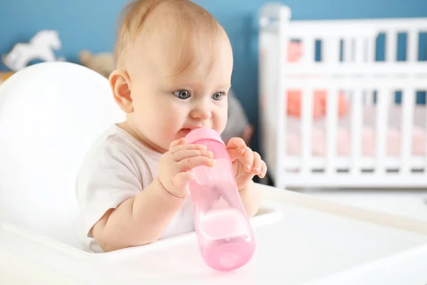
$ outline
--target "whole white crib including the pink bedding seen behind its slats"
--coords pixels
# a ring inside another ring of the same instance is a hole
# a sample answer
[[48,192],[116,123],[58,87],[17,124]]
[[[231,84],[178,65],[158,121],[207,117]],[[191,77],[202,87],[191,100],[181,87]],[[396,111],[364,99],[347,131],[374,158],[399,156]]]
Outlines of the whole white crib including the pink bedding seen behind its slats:
[[[426,104],[416,104],[416,92],[427,90],[427,62],[418,61],[427,19],[290,21],[290,14],[267,4],[259,15],[260,142],[275,186],[427,187]],[[376,61],[381,34],[385,58]],[[396,56],[401,35],[405,61]],[[302,48],[297,60],[288,56],[292,45]],[[315,90],[327,100],[318,99],[325,112],[314,118]]]

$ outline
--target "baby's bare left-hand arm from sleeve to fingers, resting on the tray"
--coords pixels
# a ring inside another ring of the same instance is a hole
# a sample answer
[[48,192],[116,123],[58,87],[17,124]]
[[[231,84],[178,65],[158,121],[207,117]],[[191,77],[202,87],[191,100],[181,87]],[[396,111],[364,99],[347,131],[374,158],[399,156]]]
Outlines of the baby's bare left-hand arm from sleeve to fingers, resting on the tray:
[[92,229],[93,238],[105,252],[157,241],[188,194],[194,167],[213,166],[212,153],[203,145],[172,142],[159,161],[159,177],[137,197],[109,209]]

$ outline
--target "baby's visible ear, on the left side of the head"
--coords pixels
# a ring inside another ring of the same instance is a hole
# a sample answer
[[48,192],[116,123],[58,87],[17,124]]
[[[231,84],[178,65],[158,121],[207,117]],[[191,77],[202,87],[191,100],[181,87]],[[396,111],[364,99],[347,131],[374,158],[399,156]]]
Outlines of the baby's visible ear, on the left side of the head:
[[125,113],[134,111],[130,96],[130,77],[126,71],[116,70],[110,74],[110,86],[114,100]]

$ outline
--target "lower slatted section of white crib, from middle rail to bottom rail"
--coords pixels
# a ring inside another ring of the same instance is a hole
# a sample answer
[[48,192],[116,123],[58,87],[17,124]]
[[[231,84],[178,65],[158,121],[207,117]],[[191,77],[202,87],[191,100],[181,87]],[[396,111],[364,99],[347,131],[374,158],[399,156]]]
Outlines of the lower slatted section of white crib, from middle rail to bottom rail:
[[[297,187],[301,185],[324,187],[378,187],[389,185],[395,181],[394,187],[411,185],[412,187],[426,187],[427,185],[427,145],[426,155],[414,156],[412,153],[411,138],[413,137],[413,117],[416,90],[427,90],[427,82],[420,78],[409,80],[306,80],[295,79],[287,83],[288,90],[300,89],[304,103],[302,104],[301,127],[301,155],[299,157],[288,155],[286,148],[280,149],[278,157],[283,157],[281,171],[277,175],[283,175],[285,185]],[[325,133],[326,150],[323,157],[312,154],[312,118],[314,90],[327,89],[327,112]],[[375,154],[371,157],[362,156],[362,98],[369,90],[377,91],[376,112],[376,145]],[[394,97],[394,90],[402,89],[403,105],[401,121],[401,149],[398,156],[386,155],[386,138],[389,121],[389,105]],[[351,94],[350,105],[351,151],[347,157],[337,155],[337,102],[340,90]],[[427,114],[427,112],[426,112]],[[427,126],[427,118],[426,126]],[[283,116],[284,124],[288,123],[288,117]],[[280,131],[279,131],[280,132]],[[369,180],[369,183],[367,180]],[[390,180],[391,179],[391,180]],[[411,180],[409,182],[409,180]],[[338,182],[340,181],[340,182]],[[399,182],[401,181],[401,182]],[[406,184],[405,184],[406,183]]]

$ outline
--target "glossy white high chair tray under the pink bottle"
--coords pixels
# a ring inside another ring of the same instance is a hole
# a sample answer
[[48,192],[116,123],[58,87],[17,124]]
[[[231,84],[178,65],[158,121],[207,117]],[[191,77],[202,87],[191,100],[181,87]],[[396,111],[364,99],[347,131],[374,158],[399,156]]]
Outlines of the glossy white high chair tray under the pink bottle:
[[3,224],[1,284],[427,284],[426,222],[258,187],[257,249],[236,271],[209,269],[194,233],[91,254]]

